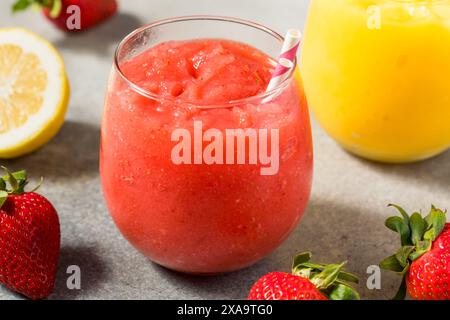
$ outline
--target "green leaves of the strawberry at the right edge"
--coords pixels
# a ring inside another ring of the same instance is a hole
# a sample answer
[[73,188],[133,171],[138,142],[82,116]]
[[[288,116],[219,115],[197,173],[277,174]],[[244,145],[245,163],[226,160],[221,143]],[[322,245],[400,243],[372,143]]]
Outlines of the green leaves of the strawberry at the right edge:
[[402,284],[393,298],[404,299],[406,296],[406,274],[411,263],[419,259],[431,250],[433,241],[444,230],[446,211],[431,207],[430,213],[423,218],[420,213],[411,216],[397,205],[389,205],[396,208],[402,217],[390,217],[385,225],[390,230],[400,234],[401,248],[392,256],[380,262],[380,267],[398,273],[402,277]]

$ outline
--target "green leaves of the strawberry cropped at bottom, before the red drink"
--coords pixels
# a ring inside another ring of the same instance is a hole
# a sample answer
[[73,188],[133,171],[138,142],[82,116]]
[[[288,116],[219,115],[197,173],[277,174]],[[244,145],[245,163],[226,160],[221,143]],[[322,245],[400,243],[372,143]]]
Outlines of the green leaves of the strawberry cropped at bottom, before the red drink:
[[294,257],[292,273],[309,279],[318,290],[331,300],[359,300],[359,294],[347,282],[358,283],[358,277],[342,271],[346,262],[341,264],[316,264],[309,262],[311,252]]

